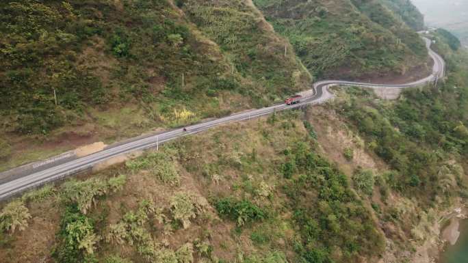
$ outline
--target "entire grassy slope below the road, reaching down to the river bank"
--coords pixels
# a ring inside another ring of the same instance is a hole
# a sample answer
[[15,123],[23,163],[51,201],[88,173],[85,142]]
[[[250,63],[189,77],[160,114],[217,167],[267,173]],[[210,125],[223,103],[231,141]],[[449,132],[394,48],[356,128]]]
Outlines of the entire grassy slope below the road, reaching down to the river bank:
[[[467,53],[436,38],[452,65],[439,89],[411,90],[391,102],[337,89],[328,105],[179,139],[162,153],[83,176],[127,175],[120,190],[92,183],[79,191],[78,200],[98,195],[86,214],[67,199],[78,185],[73,181],[25,195],[32,218],[23,232],[2,233],[1,258],[66,263],[119,255],[151,262],[148,255],[161,256],[152,246],[172,256],[192,243],[194,259],[187,262],[411,262],[437,236],[441,214],[468,197]],[[178,193],[190,193],[196,204],[185,229],[171,209]],[[144,199],[161,210],[142,215]],[[93,239],[92,255],[66,245],[70,219],[88,229],[78,236],[102,238]],[[111,225],[128,221],[135,223],[124,234],[133,237],[112,243]]]

